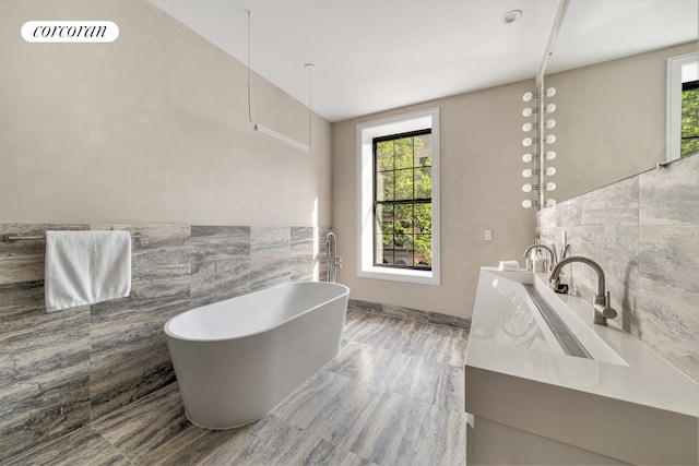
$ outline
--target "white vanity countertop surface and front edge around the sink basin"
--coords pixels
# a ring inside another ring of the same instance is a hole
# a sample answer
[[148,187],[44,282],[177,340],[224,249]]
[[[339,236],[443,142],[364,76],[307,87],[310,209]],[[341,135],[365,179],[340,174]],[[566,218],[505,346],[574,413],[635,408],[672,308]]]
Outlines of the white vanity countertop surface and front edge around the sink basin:
[[[628,366],[498,342],[493,335],[493,323],[501,321],[512,310],[508,297],[503,298],[502,292],[494,291],[493,282],[498,277],[512,277],[513,282],[533,284],[549,302],[553,299],[565,302],[578,319]],[[466,367],[699,418],[697,382],[615,323],[608,326],[593,324],[592,307],[587,300],[572,295],[554,294],[545,279],[544,274],[535,276],[525,271],[500,272],[496,267],[482,268]],[[508,306],[502,306],[503,303],[510,304],[509,309]]]

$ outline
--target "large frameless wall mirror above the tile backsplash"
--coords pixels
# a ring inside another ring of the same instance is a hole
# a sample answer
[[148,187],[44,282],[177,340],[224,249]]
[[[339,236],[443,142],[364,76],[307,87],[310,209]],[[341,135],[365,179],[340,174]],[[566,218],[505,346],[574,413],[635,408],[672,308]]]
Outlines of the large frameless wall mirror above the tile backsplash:
[[557,202],[668,160],[668,59],[687,56],[699,57],[697,0],[570,0],[544,76]]

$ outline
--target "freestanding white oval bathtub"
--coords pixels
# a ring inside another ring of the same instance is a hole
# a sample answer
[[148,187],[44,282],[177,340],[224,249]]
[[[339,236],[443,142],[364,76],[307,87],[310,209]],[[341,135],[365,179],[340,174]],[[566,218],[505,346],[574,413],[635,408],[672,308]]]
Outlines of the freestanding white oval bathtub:
[[348,299],[344,285],[292,283],[167,321],[189,420],[230,429],[274,409],[337,355]]

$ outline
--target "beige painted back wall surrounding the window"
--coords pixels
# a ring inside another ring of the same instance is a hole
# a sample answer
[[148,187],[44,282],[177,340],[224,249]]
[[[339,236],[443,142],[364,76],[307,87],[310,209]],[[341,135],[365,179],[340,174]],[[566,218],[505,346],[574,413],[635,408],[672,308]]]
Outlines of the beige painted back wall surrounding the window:
[[[352,297],[470,318],[482,265],[517,259],[533,241],[534,212],[521,207],[521,96],[533,81],[463,94],[333,124],[333,229]],[[356,276],[356,124],[439,107],[441,285]],[[493,241],[484,241],[484,229]]]

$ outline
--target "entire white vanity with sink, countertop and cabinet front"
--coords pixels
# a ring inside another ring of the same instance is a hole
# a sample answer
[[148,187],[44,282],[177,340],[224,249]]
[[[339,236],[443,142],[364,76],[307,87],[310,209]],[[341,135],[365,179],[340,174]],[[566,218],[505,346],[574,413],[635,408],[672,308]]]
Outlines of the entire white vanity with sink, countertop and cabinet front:
[[[544,280],[481,271],[464,371],[467,464],[699,464],[699,384]],[[532,287],[590,357],[557,345]]]

